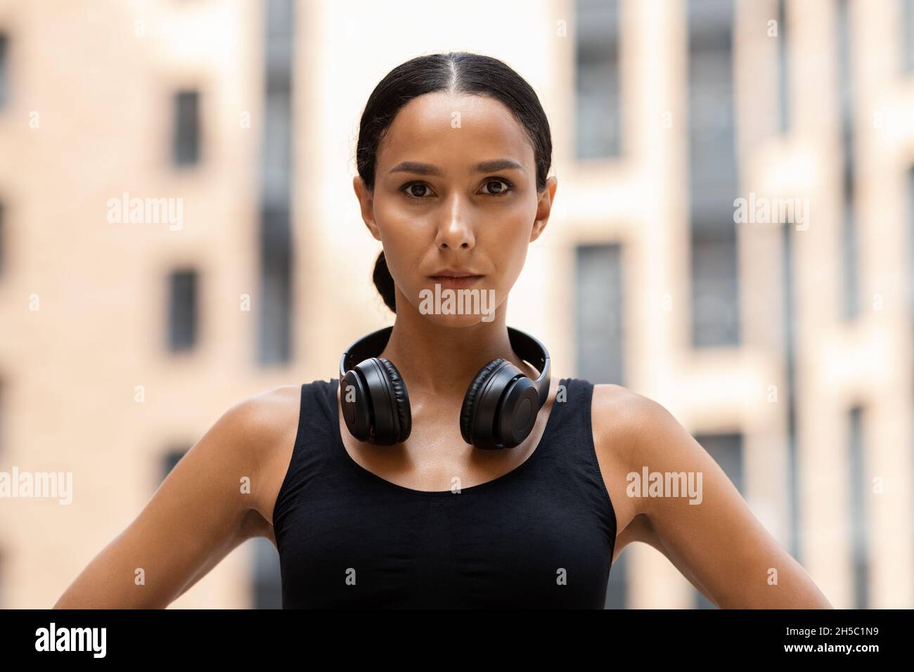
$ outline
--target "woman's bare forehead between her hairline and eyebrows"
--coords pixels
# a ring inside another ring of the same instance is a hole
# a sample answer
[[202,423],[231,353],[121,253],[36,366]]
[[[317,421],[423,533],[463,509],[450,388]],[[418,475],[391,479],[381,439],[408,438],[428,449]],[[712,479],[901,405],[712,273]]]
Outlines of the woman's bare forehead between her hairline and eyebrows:
[[535,157],[524,127],[501,101],[488,96],[426,93],[400,108],[378,146],[377,168],[400,161],[470,165],[514,159],[532,174]]

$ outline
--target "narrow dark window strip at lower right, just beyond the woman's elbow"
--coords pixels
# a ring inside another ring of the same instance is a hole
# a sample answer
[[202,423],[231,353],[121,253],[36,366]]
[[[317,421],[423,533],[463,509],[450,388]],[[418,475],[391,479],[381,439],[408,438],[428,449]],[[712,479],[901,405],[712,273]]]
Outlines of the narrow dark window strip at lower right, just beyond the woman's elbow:
[[869,608],[869,552],[866,534],[866,495],[869,477],[866,472],[863,445],[863,408],[854,406],[847,411],[850,478],[851,558],[854,568],[854,608]]

